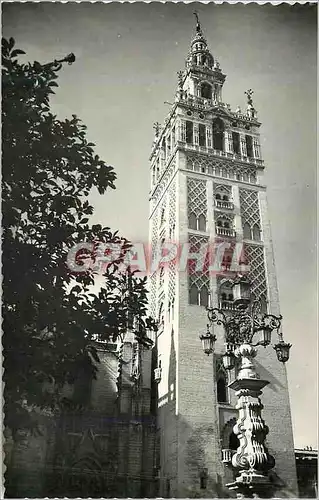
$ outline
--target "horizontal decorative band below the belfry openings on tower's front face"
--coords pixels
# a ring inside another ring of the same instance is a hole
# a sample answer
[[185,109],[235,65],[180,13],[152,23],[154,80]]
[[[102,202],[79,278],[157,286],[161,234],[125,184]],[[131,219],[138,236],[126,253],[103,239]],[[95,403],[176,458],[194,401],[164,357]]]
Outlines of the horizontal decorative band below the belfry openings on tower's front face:
[[245,164],[230,162],[226,159],[210,158],[203,155],[188,155],[186,168],[194,172],[202,172],[215,177],[235,179],[256,184],[256,169]]

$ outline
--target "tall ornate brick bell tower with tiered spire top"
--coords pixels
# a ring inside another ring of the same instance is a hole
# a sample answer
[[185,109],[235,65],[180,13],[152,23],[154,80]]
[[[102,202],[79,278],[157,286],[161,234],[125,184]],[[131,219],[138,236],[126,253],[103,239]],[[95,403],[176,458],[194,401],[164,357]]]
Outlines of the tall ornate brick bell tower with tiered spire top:
[[[150,241],[157,257],[149,287],[150,314],[159,322],[158,495],[212,498],[228,496],[225,485],[236,474],[231,465],[238,446],[232,432],[236,396],[228,388],[236,374],[226,373],[221,363],[221,328],[214,332],[215,354],[202,351],[199,334],[206,329],[206,307],[231,314],[231,283],[240,271],[248,273],[265,312],[279,315],[280,308],[253,92],[245,92],[244,111],[224,102],[226,76],[195,15],[175,102],[164,124],[154,126]],[[168,242],[175,258],[168,259],[166,252],[161,261],[158,255],[163,257]],[[276,496],[294,497],[285,366],[273,349],[262,349],[257,370],[270,382],[262,402],[270,429],[267,446],[276,460],[272,480]]]

